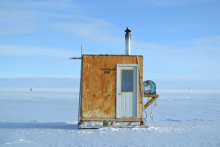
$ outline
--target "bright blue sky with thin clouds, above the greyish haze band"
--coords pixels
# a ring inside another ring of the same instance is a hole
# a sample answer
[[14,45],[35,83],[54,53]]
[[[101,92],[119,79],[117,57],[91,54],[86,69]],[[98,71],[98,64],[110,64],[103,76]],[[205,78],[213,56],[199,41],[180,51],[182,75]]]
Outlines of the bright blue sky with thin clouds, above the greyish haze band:
[[79,78],[84,54],[144,56],[144,79],[220,81],[219,0],[0,0],[0,78]]

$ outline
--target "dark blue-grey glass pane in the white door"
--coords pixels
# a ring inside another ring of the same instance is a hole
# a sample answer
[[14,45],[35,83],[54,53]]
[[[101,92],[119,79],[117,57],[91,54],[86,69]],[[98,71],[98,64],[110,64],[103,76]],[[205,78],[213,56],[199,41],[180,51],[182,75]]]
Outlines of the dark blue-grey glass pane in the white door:
[[133,92],[133,70],[121,70],[121,92]]

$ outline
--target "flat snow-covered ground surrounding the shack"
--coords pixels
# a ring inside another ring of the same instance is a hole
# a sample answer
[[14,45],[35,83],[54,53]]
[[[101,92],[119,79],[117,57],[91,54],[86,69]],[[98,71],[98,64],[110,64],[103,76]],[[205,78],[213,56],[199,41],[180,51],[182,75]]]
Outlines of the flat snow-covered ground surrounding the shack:
[[78,129],[77,89],[1,88],[0,146],[220,146],[220,91],[158,94],[149,128]]

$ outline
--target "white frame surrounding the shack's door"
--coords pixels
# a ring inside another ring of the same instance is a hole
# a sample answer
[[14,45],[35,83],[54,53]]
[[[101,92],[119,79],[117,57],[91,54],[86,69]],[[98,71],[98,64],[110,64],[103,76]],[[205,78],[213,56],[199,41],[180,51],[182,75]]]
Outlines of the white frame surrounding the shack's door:
[[[136,87],[136,102],[137,102],[137,106],[136,106],[136,108],[137,108],[137,110],[136,110],[136,116],[134,116],[134,117],[132,117],[132,118],[138,118],[138,88],[139,88],[139,65],[138,64],[117,64],[116,65],[116,84],[115,84],[115,89],[116,89],[116,97],[115,97],[115,99],[116,99],[116,112],[115,112],[115,117],[116,118],[121,118],[121,117],[118,117],[118,93],[119,93],[119,91],[118,91],[118,85],[117,85],[117,83],[118,83],[118,69],[119,69],[119,67],[135,67],[136,68],[136,77],[134,77],[134,78],[136,78],[136,85],[137,85],[137,87]],[[119,71],[119,74],[120,74],[120,80],[121,80],[121,73],[120,73],[120,71]],[[135,85],[135,84],[134,84]],[[135,88],[135,86],[134,86],[134,88]]]

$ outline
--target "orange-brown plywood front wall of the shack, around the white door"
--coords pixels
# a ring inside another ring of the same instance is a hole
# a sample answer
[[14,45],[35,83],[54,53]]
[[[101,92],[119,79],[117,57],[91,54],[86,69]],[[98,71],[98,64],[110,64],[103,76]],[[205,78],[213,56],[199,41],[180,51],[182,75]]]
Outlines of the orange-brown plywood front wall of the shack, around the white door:
[[[138,56],[140,81],[143,81],[143,56]],[[116,65],[137,64],[137,56],[83,55],[82,118],[114,119],[116,113]],[[142,117],[139,85],[138,118]]]

